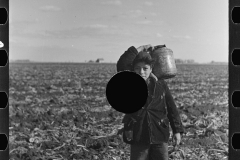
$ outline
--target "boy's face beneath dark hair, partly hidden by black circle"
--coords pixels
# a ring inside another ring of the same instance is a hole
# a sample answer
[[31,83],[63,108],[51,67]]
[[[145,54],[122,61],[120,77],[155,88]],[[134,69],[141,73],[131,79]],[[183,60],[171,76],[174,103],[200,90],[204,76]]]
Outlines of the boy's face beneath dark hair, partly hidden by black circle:
[[152,68],[144,62],[138,62],[134,66],[134,72],[139,74],[146,81],[152,72]]

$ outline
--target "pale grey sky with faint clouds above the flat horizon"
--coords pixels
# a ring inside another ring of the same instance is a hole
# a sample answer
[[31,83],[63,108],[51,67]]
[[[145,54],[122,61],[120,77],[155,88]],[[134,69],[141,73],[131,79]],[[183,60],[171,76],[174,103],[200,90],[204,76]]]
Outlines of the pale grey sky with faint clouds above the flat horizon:
[[228,61],[227,0],[10,0],[10,60],[116,62],[130,46]]

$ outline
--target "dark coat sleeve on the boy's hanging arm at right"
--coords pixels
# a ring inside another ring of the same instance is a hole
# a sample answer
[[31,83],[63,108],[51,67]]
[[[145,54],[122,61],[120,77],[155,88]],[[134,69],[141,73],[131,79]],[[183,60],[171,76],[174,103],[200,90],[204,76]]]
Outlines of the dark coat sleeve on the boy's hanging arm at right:
[[172,97],[172,94],[167,86],[167,83],[163,81],[163,85],[165,88],[165,97],[166,97],[166,104],[167,104],[167,112],[168,112],[168,119],[173,131],[175,133],[184,133],[184,127],[181,122],[181,118],[179,116],[176,104]]

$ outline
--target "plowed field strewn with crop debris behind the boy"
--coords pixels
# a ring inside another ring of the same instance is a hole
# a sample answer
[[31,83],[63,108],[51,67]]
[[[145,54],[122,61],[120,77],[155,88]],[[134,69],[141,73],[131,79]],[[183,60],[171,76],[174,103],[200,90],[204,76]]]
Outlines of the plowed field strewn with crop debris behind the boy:
[[[170,159],[227,159],[228,66],[177,69],[167,83],[186,134],[175,148],[170,138]],[[10,64],[10,159],[129,159],[123,114],[105,97],[115,73],[115,64]]]

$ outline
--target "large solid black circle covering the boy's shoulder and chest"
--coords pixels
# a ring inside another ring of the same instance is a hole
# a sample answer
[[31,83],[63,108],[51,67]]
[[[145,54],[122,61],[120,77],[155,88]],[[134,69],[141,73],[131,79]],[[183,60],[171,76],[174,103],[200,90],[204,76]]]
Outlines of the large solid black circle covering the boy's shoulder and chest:
[[147,96],[147,84],[135,72],[119,72],[107,83],[107,100],[119,112],[129,114],[138,111],[145,105]]

